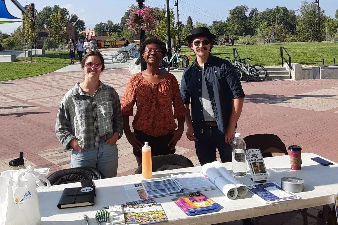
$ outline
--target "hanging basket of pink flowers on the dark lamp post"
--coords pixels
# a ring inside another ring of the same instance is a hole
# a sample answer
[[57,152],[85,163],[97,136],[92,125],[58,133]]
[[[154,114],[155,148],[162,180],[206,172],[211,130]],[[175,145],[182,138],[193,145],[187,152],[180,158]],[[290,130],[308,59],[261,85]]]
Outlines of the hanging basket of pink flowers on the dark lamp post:
[[155,13],[149,6],[143,6],[142,9],[139,9],[136,5],[132,4],[129,6],[128,12],[129,18],[126,24],[130,31],[138,32],[140,29],[145,31],[156,29],[158,24],[154,19]]

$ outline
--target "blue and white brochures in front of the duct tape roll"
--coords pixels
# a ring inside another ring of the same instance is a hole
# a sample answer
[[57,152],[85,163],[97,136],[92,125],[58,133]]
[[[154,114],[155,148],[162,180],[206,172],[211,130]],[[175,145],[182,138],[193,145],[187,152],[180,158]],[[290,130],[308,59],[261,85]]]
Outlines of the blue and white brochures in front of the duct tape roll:
[[282,190],[275,182],[266,182],[247,186],[249,191],[255,194],[262,202],[266,204],[275,204],[282,201],[299,199],[300,197]]

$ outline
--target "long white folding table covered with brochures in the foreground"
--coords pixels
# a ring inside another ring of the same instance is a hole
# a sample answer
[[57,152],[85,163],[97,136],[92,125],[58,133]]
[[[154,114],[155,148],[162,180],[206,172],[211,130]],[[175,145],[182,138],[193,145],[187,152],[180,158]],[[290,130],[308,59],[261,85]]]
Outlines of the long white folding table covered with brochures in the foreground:
[[[285,176],[294,176],[305,180],[305,191],[296,193],[301,197],[300,199],[268,205],[260,201],[258,197],[253,196],[250,192],[244,197],[230,200],[218,189],[202,191],[202,194],[210,197],[222,207],[218,212],[197,216],[186,216],[171,201],[174,195],[155,198],[155,201],[162,204],[169,219],[168,225],[216,224],[334,203],[333,196],[338,194],[338,164],[333,163],[331,166],[322,166],[312,161],[311,158],[313,157],[318,157],[318,155],[302,153],[302,165],[299,171],[291,170],[288,155],[264,158],[269,175],[268,181],[274,181],[280,185],[281,178]],[[232,168],[231,162],[223,163],[223,165],[229,170]],[[247,170],[249,171],[248,165]],[[201,166],[159,171],[153,172],[153,178],[167,176],[168,174],[199,171],[201,171]],[[239,177],[238,179],[245,185],[251,185],[253,182],[250,178],[251,175],[248,173],[246,176]],[[38,188],[41,224],[80,225],[84,224],[83,214],[89,217],[89,224],[96,224],[95,212],[104,206],[125,204],[130,201],[123,185],[141,179],[143,179],[142,174],[94,180],[93,182],[96,186],[95,205],[69,209],[58,209],[56,205],[65,188],[80,187],[80,182],[51,186],[49,189]]]

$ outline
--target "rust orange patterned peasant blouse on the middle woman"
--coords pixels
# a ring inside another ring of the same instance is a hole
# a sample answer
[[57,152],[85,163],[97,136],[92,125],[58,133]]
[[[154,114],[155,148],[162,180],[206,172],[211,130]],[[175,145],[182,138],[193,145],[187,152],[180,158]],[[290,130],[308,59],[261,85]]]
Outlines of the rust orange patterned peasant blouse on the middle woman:
[[141,72],[132,75],[121,102],[122,116],[133,116],[135,102],[132,127],[153,137],[171,133],[177,128],[175,119],[186,115],[178,82],[172,74],[158,83],[148,82]]

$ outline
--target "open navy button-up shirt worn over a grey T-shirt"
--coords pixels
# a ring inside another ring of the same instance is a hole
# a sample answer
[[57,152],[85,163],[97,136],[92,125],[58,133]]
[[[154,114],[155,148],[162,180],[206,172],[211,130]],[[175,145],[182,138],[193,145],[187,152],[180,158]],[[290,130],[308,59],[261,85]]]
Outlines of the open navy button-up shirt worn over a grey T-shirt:
[[233,99],[245,97],[241,82],[229,61],[211,54],[204,63],[204,77],[196,62],[185,69],[180,91],[184,104],[189,105],[191,99],[191,119],[195,133],[202,133],[204,129],[201,79],[206,79],[218,131],[223,135],[231,116]]

